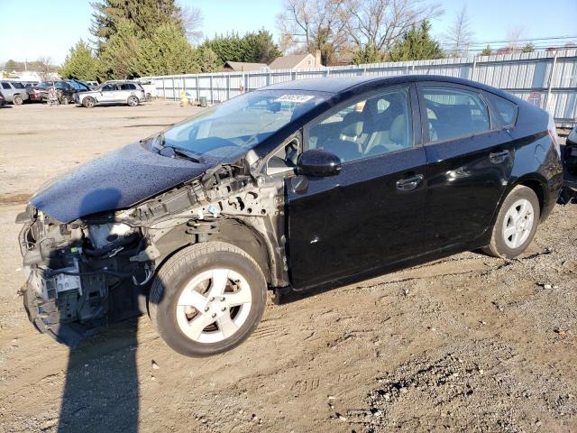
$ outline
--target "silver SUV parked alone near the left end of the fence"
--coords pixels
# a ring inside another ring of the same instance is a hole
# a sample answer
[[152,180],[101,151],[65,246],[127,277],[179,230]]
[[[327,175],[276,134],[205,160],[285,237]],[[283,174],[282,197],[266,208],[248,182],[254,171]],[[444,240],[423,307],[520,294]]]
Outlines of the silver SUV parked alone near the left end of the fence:
[[144,100],[142,87],[130,81],[106,81],[96,90],[79,94],[74,98],[76,104],[87,108],[109,104],[138,106]]

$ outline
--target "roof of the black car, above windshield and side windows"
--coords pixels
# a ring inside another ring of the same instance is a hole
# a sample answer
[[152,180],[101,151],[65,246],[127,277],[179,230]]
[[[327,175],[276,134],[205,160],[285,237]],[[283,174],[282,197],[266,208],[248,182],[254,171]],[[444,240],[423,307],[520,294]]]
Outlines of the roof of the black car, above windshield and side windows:
[[463,78],[445,77],[440,75],[398,75],[395,77],[358,77],[358,78],[312,78],[312,79],[298,79],[291,81],[283,81],[282,83],[273,84],[260,90],[301,90],[301,91],[315,91],[326,93],[341,93],[344,90],[362,87],[367,84],[390,86],[400,83],[412,83],[417,81],[441,81],[454,84],[462,84],[464,86],[472,86],[474,88],[481,88],[491,92],[497,91],[503,93],[496,88],[490,88],[484,84],[477,83]]

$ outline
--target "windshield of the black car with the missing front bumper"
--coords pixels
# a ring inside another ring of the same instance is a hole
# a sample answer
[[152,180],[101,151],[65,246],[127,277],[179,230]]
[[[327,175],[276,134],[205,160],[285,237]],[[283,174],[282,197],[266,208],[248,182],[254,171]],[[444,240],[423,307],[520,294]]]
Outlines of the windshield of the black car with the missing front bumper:
[[264,90],[234,97],[170,128],[162,144],[215,158],[240,156],[323,102],[320,95]]

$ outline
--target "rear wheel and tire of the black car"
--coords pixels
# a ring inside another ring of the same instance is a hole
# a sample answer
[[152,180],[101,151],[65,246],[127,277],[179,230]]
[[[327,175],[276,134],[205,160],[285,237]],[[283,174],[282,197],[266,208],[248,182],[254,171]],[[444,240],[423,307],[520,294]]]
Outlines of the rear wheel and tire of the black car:
[[503,201],[492,228],[490,244],[483,251],[494,257],[517,257],[533,241],[540,216],[541,208],[535,191],[518,185]]

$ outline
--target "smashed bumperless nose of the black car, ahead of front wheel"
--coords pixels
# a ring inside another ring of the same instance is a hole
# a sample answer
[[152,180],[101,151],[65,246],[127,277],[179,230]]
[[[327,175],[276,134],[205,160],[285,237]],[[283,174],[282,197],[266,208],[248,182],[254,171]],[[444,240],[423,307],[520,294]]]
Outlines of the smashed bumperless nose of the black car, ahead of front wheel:
[[76,345],[100,327],[145,310],[153,257],[138,227],[89,219],[61,224],[30,205],[20,248],[24,307],[41,332]]

